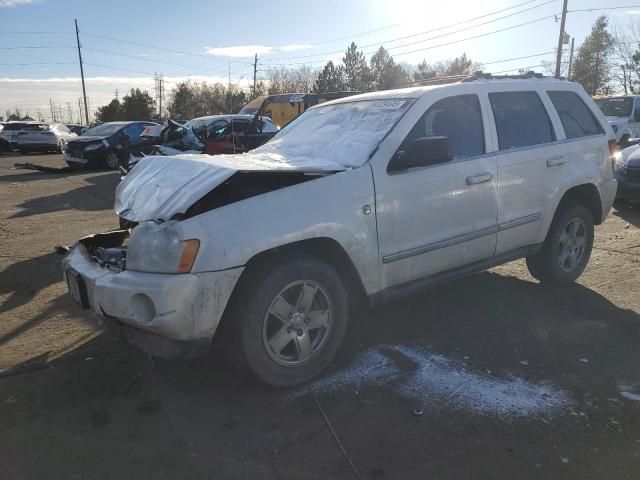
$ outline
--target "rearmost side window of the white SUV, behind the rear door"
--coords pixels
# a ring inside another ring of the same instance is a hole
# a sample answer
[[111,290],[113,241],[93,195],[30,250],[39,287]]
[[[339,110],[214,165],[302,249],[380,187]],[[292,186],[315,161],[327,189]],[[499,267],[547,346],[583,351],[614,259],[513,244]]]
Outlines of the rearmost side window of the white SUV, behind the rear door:
[[574,92],[547,92],[558,112],[567,138],[588,137],[604,133],[589,107]]

